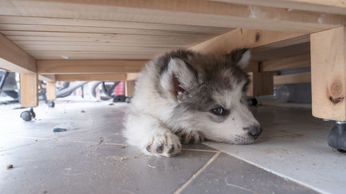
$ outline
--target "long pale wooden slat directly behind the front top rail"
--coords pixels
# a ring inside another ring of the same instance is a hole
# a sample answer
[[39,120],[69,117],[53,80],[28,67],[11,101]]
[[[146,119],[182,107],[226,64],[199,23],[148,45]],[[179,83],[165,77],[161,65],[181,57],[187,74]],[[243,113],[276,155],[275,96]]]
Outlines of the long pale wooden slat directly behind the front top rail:
[[[1,12],[2,13],[2,12]],[[110,21],[110,20],[92,20],[92,19],[71,19],[57,17],[21,17],[1,15],[0,23],[13,24],[31,24],[31,25],[46,25],[46,26],[81,26],[81,27],[98,27],[98,28],[129,28],[129,29],[145,29],[145,30],[169,30],[179,32],[192,32],[203,34],[223,34],[232,30],[232,28],[215,28],[206,26],[188,26],[174,25],[165,23],[149,23],[149,22],[128,22],[128,21]],[[19,15],[19,13],[17,13]]]

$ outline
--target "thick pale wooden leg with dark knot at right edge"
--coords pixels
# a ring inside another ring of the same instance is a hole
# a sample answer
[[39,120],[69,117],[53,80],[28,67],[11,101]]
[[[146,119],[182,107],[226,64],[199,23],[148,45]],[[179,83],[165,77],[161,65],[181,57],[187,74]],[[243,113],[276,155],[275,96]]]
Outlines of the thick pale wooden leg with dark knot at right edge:
[[346,27],[311,35],[312,114],[346,121]]

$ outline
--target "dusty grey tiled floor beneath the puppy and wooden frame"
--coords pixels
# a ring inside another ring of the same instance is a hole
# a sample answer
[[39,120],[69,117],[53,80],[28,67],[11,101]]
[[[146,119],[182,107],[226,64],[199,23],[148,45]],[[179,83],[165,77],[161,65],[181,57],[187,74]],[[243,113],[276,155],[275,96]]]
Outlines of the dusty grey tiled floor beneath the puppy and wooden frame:
[[[336,193],[333,182],[338,189],[346,183],[345,156],[326,146],[329,126],[309,109],[258,107],[264,134],[256,144],[206,142],[214,148],[188,145],[176,157],[158,158],[124,146],[126,107],[57,101],[22,122],[23,110],[0,106],[0,193]],[[53,133],[59,124],[71,128]],[[325,177],[319,187],[308,180],[318,175]]]

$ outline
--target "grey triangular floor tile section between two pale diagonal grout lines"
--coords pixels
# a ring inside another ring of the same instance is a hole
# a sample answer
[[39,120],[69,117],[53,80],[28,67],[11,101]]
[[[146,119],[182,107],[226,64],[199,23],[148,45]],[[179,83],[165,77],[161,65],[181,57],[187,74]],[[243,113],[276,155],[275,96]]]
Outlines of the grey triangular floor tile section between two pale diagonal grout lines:
[[317,193],[221,153],[181,193]]

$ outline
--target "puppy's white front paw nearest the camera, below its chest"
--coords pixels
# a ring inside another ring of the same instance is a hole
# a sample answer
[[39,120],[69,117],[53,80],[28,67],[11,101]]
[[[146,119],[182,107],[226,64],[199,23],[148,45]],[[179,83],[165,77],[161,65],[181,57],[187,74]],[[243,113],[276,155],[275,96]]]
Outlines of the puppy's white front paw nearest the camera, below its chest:
[[179,137],[172,133],[155,134],[145,148],[145,151],[151,155],[164,157],[170,157],[170,155],[179,153],[180,150]]

